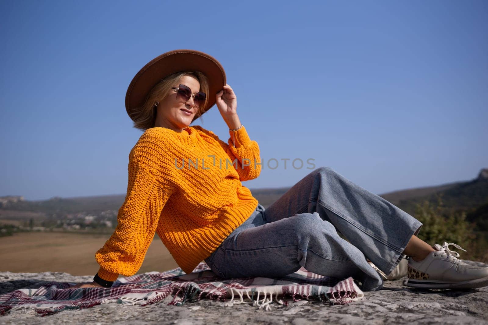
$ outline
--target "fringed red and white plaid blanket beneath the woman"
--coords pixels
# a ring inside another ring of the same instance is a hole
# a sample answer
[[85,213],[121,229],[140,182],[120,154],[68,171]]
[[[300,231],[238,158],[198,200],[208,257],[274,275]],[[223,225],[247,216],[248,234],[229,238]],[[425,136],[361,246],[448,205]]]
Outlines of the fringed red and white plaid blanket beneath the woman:
[[[32,308],[40,316],[61,310],[89,308],[103,303],[146,306],[172,295],[168,305],[182,305],[201,298],[221,300],[224,306],[251,304],[270,310],[271,303],[288,305],[289,300],[316,300],[330,305],[363,298],[351,277],[325,277],[300,268],[283,278],[235,278],[224,280],[200,263],[190,274],[181,268],[147,272],[120,278],[111,288],[72,288],[75,283],[49,282],[37,289],[18,289],[0,295],[0,315]],[[274,297],[273,297],[274,295]],[[230,298],[230,300],[229,300]]]

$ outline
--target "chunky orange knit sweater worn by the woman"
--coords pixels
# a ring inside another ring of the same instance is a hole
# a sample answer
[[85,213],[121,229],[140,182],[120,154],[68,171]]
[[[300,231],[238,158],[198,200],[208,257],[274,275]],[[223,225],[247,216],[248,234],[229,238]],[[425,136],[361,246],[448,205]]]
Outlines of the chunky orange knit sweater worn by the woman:
[[241,181],[259,176],[259,147],[244,127],[229,135],[225,143],[198,125],[141,135],[117,228],[95,253],[102,279],[136,274],[155,232],[190,273],[251,215],[258,200]]

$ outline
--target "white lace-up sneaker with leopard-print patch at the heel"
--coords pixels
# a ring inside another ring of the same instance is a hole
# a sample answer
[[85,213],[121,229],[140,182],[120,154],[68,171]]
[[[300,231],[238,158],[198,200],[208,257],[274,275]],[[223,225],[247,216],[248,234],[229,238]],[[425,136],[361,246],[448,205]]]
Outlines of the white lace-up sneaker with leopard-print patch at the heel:
[[[459,253],[448,249],[454,243],[434,245],[433,251],[422,261],[408,259],[408,287],[430,289],[472,289],[488,286],[488,268],[477,267],[457,259]],[[466,251],[465,249],[462,249]]]

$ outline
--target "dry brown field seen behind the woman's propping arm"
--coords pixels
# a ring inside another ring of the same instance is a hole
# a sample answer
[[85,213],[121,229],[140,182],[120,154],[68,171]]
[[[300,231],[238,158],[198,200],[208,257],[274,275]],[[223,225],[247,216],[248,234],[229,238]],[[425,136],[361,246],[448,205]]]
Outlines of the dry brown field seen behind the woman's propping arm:
[[[109,237],[109,234],[64,232],[20,232],[0,237],[0,271],[95,275],[100,267],[95,252]],[[137,273],[163,272],[172,268],[178,268],[178,265],[156,236]]]

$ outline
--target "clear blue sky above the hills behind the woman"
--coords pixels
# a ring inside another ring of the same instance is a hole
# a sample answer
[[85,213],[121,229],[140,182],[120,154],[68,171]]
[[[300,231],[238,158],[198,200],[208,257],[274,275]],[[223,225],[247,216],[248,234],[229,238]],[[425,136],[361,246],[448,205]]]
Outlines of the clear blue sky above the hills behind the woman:
[[[291,186],[314,159],[369,191],[488,167],[488,2],[0,2],[0,195],[125,194],[124,96],[158,55],[217,58],[264,162]],[[227,141],[216,106],[194,124]],[[273,167],[273,165],[271,165]]]

